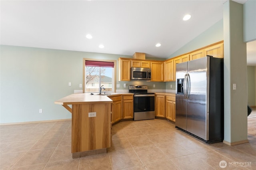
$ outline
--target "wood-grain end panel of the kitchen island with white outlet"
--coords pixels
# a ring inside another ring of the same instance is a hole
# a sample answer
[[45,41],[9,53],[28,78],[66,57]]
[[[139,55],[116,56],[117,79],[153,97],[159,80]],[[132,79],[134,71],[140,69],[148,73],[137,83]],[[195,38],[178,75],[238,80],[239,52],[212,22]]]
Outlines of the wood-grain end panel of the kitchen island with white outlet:
[[[96,117],[88,117],[96,112]],[[111,104],[72,105],[72,153],[111,146]]]

